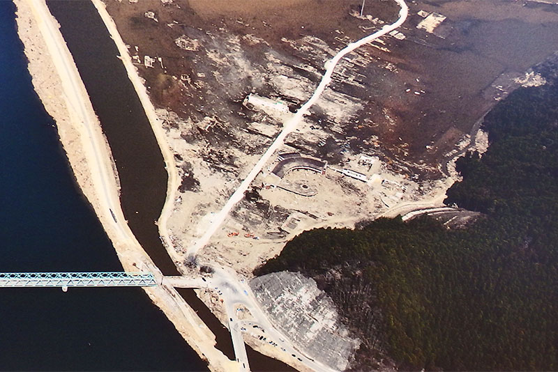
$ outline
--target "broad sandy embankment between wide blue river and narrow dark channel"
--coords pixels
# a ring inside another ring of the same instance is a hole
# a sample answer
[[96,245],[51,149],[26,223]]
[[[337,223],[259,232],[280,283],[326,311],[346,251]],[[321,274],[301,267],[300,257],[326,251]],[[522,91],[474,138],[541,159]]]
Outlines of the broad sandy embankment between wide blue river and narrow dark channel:
[[[125,222],[110,148],[56,20],[44,1],[16,0],[15,4],[18,33],[29,59],[33,86],[56,121],[78,185],[112,241],[124,270],[151,271],[160,279],[160,270]],[[212,371],[226,371],[236,364],[213,347],[215,336],[174,288],[144,290],[197,354],[209,362]]]

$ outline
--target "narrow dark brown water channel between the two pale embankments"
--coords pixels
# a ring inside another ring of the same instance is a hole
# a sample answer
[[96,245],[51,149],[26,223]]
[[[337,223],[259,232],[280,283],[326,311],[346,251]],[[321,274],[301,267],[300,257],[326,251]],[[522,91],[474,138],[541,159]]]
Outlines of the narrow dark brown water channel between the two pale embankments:
[[[116,57],[119,54],[118,50],[91,2],[50,0],[47,1],[47,5],[61,24],[61,33],[73,55],[91,98],[93,109],[100,119],[103,132],[110,144],[121,181],[121,205],[128,224],[160,270],[167,275],[178,274],[159,240],[158,229],[154,223],[163,208],[167,190],[167,172],[163,156],[127,72],[120,59]],[[56,132],[54,129],[52,132],[56,141]],[[56,146],[59,147],[57,143]],[[60,148],[58,150],[60,151]],[[66,160],[63,161],[66,171],[69,171]],[[72,186],[82,198],[76,185],[72,184]],[[89,211],[91,212],[91,208]],[[97,221],[95,224],[100,228]],[[110,247],[110,242],[107,242],[104,233],[103,237],[105,245]],[[88,239],[89,237],[84,237],[81,241],[85,242]],[[112,247],[110,251],[116,258]],[[119,268],[114,270],[121,270],[120,265],[118,263],[116,265]],[[195,297],[193,290],[181,290],[181,295],[195,307],[199,316],[216,334],[217,347],[230,358],[234,358],[228,330],[220,325],[211,311]],[[162,316],[162,313],[158,315]],[[166,335],[169,342],[176,339],[176,336],[180,337],[176,330],[169,332],[172,333],[172,337]],[[163,345],[166,348],[166,343]],[[188,371],[206,369],[201,359],[183,339],[174,343],[174,348],[169,349],[176,352],[177,348],[181,354],[179,358],[182,361],[181,365],[168,366],[163,363],[147,369]],[[261,355],[251,348],[248,348],[248,353],[254,371],[292,371],[286,364]],[[107,367],[101,369],[123,368],[107,362]],[[144,368],[130,367],[130,369]]]

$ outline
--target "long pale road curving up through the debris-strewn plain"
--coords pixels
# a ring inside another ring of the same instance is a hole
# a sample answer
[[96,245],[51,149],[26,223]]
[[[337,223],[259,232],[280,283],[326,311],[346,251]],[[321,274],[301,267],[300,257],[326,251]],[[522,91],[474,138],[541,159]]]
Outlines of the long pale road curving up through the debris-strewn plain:
[[246,178],[242,181],[239,188],[236,189],[236,191],[231,195],[227,203],[225,203],[223,209],[221,209],[218,213],[216,213],[213,216],[213,219],[211,219],[211,224],[209,224],[209,228],[207,228],[204,235],[202,235],[199,239],[195,240],[194,244],[188,248],[188,256],[195,256],[197,254],[197,251],[199,251],[199,249],[202,249],[207,245],[207,243],[209,243],[209,240],[211,240],[213,234],[215,234],[218,228],[221,226],[221,224],[223,224],[223,222],[229,215],[229,212],[232,210],[232,208],[234,208],[234,206],[236,206],[236,204],[243,199],[244,192],[248,190],[248,187],[250,187],[252,181],[256,178],[257,174],[260,171],[262,171],[265,164],[268,162],[271,156],[273,156],[273,153],[275,153],[276,150],[278,150],[282,146],[283,142],[285,141],[285,137],[287,137],[287,135],[289,135],[290,133],[294,132],[294,130],[296,130],[296,127],[298,127],[299,123],[303,120],[303,116],[308,113],[308,109],[310,109],[310,107],[312,107],[312,104],[315,104],[319,96],[322,95],[326,86],[331,82],[331,75],[333,74],[333,70],[335,70],[335,66],[337,66],[340,59],[342,59],[345,55],[349,54],[350,52],[354,51],[354,49],[361,47],[365,44],[368,44],[369,42],[372,42],[373,40],[376,40],[377,38],[386,35],[386,33],[389,33],[397,29],[399,26],[403,24],[403,22],[405,22],[405,20],[407,20],[407,15],[409,14],[409,8],[407,7],[407,3],[405,3],[405,0],[394,0],[394,1],[398,3],[398,5],[401,8],[399,11],[398,20],[395,21],[395,23],[393,24],[383,26],[382,29],[380,29],[379,31],[376,31],[375,33],[372,33],[371,35],[366,36],[361,40],[352,42],[351,44],[347,45],[347,47],[341,49],[340,52],[338,52],[338,54],[335,54],[333,59],[326,62],[325,64],[326,72],[324,73],[324,76],[322,77],[322,80],[319,82],[319,85],[317,86],[316,90],[312,94],[312,97],[310,97],[310,99],[305,104],[303,104],[298,111],[296,111],[294,116],[290,118],[289,121],[284,123],[282,131],[275,139],[275,141],[273,141],[273,144],[271,144],[271,146],[269,146],[269,148],[266,150],[264,155],[262,155],[262,157],[259,158],[256,165],[252,168],[250,173],[248,173],[248,176],[246,176]]

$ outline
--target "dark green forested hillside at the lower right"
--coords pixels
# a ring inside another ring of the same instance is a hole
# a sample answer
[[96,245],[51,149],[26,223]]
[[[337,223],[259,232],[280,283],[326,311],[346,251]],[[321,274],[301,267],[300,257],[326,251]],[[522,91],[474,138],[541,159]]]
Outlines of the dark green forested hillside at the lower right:
[[404,369],[558,370],[558,84],[520,88],[485,118],[490,148],[458,162],[447,203],[485,217],[428,218],[294,238],[257,274],[300,271],[365,342]]

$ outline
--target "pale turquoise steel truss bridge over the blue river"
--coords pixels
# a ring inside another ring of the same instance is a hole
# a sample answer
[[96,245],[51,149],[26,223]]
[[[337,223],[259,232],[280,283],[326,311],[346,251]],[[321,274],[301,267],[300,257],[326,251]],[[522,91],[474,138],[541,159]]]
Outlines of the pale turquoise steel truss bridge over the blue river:
[[147,287],[151,272],[0,272],[2,287]]

